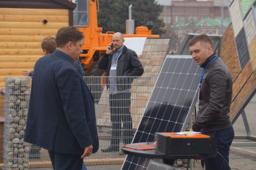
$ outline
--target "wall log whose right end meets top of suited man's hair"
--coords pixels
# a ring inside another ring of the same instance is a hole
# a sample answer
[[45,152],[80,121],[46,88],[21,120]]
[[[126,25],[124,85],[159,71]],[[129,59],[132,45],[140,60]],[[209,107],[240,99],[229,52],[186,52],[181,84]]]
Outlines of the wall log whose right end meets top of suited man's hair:
[[0,35],[41,35],[55,36],[59,29],[0,28]]

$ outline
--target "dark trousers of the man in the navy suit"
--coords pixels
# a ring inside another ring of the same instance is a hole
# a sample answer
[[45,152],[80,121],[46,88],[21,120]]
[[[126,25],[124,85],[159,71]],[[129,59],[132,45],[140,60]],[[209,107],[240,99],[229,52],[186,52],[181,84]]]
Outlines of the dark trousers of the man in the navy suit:
[[83,159],[80,155],[71,155],[49,151],[50,161],[54,170],[77,170],[82,169]]

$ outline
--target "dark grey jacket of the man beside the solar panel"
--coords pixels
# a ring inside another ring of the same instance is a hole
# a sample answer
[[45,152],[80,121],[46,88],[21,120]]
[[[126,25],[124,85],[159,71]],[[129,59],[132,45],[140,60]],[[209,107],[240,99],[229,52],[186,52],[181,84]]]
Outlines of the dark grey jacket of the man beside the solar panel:
[[[201,67],[217,55],[211,55]],[[203,76],[199,94],[199,111],[193,131],[203,133],[230,128],[230,104],[232,99],[232,78],[221,58],[212,61]]]

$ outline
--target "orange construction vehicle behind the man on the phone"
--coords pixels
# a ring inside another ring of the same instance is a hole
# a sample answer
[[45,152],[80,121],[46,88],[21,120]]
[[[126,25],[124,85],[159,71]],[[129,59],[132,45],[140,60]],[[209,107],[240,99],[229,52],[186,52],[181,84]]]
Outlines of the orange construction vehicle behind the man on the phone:
[[[73,12],[73,25],[85,34],[83,53],[80,55],[87,76],[101,76],[102,71],[97,69],[97,61],[112,41],[113,31],[107,31],[102,34],[102,28],[98,27],[97,12],[99,11],[99,0],[69,0],[77,4]],[[129,12],[129,20],[131,12]],[[134,26],[134,23],[133,23]],[[136,28],[136,34],[124,34],[127,37],[159,37],[151,35],[151,26],[139,26]],[[134,28],[133,28],[134,29]],[[129,30],[129,29],[128,29]]]

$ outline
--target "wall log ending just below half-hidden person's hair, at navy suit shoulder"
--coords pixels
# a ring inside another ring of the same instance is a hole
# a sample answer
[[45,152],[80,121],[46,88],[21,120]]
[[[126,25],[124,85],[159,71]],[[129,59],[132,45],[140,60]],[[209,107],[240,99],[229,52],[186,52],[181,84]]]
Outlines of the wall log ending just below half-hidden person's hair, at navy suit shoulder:
[[36,62],[42,55],[0,55],[0,62]]

